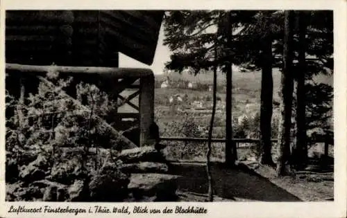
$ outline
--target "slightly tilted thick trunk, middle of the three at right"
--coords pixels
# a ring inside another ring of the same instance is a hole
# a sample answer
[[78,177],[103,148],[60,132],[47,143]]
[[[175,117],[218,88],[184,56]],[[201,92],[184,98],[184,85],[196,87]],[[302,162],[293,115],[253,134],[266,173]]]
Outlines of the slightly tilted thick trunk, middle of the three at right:
[[278,161],[276,173],[278,176],[288,174],[290,157],[291,106],[293,98],[292,70],[292,29],[293,12],[285,11],[285,35],[283,39],[283,69],[280,87],[280,122],[278,126]]

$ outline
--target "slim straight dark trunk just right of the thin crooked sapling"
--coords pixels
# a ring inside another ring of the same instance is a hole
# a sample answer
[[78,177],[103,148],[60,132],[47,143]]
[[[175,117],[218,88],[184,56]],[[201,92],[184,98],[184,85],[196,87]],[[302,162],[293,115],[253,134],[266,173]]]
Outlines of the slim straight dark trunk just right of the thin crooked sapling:
[[[227,43],[228,48],[232,48],[232,12],[227,14]],[[230,52],[230,51],[229,51]],[[231,55],[226,64],[226,164],[228,166],[235,165],[237,159],[236,146],[232,143],[232,61]]]

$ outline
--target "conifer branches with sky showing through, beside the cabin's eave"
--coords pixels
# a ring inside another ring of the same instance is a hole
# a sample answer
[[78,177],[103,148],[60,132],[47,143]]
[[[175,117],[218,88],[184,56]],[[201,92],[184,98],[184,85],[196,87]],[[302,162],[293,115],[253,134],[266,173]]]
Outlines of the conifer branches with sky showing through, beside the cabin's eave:
[[[233,10],[231,14],[232,26],[236,29],[240,28],[242,22],[249,21],[254,12]],[[226,72],[226,63],[236,53],[235,49],[231,51],[226,45],[228,15],[225,10],[167,12],[164,45],[174,51],[167,68],[179,72],[191,69],[197,74],[217,64],[221,71]],[[214,48],[217,50],[217,60],[214,59]]]

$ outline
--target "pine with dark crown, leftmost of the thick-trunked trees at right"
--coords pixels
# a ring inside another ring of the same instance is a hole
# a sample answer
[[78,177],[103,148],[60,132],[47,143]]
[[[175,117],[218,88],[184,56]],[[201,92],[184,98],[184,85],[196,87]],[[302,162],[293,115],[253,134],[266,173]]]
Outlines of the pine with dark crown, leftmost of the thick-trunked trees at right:
[[235,62],[244,71],[261,71],[260,94],[260,163],[274,166],[271,156],[271,118],[273,113],[273,41],[279,36],[278,11],[257,11],[242,24],[237,35]]

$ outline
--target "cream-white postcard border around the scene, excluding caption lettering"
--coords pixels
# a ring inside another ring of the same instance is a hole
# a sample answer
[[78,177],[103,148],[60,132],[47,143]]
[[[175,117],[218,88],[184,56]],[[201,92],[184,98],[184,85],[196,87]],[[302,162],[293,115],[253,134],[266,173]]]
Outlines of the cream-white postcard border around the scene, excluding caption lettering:
[[[166,10],[182,10],[182,9],[233,9],[233,10],[334,10],[334,57],[335,57],[335,75],[334,75],[334,120],[335,120],[335,201],[334,202],[318,202],[318,203],[264,203],[264,202],[246,202],[246,203],[6,203],[5,202],[5,188],[3,178],[5,176],[5,116],[0,116],[0,217],[81,217],[75,215],[65,214],[19,214],[15,216],[8,214],[9,205],[26,205],[26,206],[67,206],[70,207],[83,207],[89,208],[94,205],[107,205],[107,206],[153,206],[155,208],[165,208],[174,206],[203,206],[208,209],[208,215],[158,215],[158,217],[346,217],[346,2],[343,0],[312,0],[312,1],[262,1],[262,0],[248,0],[248,1],[230,1],[230,0],[179,0],[179,1],[105,1],[105,0],[88,0],[88,1],[40,1],[40,0],[3,0],[1,3],[1,73],[0,80],[2,81],[1,89],[1,102],[5,102],[4,94],[4,9],[119,9],[119,10],[150,10],[150,9],[166,9]],[[1,113],[5,114],[4,104],[0,105]],[[83,217],[94,217],[96,214],[83,215]],[[97,215],[103,216],[103,215]],[[105,217],[121,217],[119,214],[105,215]],[[135,217],[137,215],[124,215],[125,217]],[[141,217],[153,217],[156,215],[144,214]]]

